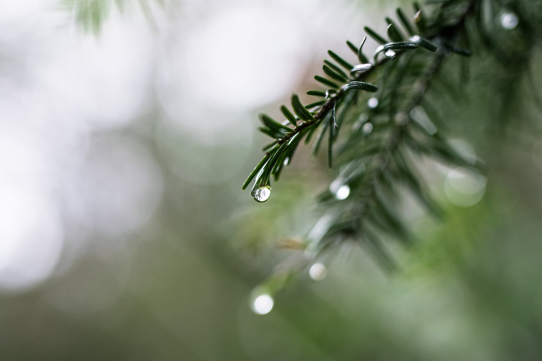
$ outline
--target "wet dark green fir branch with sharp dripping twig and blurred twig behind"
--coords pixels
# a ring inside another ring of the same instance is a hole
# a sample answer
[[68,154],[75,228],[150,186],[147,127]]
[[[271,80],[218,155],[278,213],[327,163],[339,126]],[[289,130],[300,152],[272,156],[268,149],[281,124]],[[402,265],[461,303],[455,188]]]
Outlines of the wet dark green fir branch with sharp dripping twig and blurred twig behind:
[[[307,92],[323,96],[323,104],[309,111],[310,108],[303,107],[294,94],[295,119],[270,123],[268,115],[261,115],[264,126],[260,130],[274,138],[274,142],[265,147],[264,158],[243,184],[244,189],[252,179],[256,179],[251,191],[256,201],[265,202],[269,198],[270,177],[279,177],[283,165],[288,163],[304,137],[308,143],[319,132],[314,147],[317,153],[327,132],[328,164],[330,167],[333,163],[342,165],[339,177],[318,199],[322,207],[333,210],[325,216],[329,218],[331,215],[333,220],[326,223],[321,236],[308,240],[307,247],[314,254],[337,240],[354,239],[363,241],[382,265],[392,269],[391,257],[377,234],[390,233],[405,244],[410,242],[406,226],[390,207],[390,200],[397,197],[399,184],[407,185],[431,212],[442,214],[436,202],[424,191],[425,186],[409,160],[409,153],[426,153],[449,163],[472,165],[433,130],[435,126],[429,117],[418,119],[420,117],[415,111],[424,112],[421,106],[424,105],[425,92],[448,55],[470,56],[470,51],[457,46],[455,41],[464,30],[468,16],[478,8],[478,3],[475,0],[442,1],[429,15],[415,3],[414,23],[408,20],[402,9],[397,9],[398,21],[404,29],[386,18],[390,41],[365,28],[367,34],[380,43],[372,56],[372,63],[366,63],[368,58],[363,53],[365,39],[359,48],[347,42],[362,62],[359,65],[353,66],[333,51],[328,51],[335,63],[325,61],[323,69],[331,80],[321,76],[315,76],[315,79],[330,88],[326,92]],[[403,32],[410,35],[408,41],[403,40]],[[341,80],[343,82],[338,85],[336,82]],[[370,82],[375,80],[376,84]],[[356,94],[351,89],[363,92]],[[373,92],[375,96],[368,100],[366,112],[360,114],[354,103],[364,99],[365,92]],[[427,113],[430,113],[429,109]],[[347,118],[358,121],[343,144],[335,150],[337,156],[334,157],[333,146]],[[427,120],[430,124],[424,123]],[[288,123],[295,126],[290,128]],[[332,162],[333,158],[336,162]]]

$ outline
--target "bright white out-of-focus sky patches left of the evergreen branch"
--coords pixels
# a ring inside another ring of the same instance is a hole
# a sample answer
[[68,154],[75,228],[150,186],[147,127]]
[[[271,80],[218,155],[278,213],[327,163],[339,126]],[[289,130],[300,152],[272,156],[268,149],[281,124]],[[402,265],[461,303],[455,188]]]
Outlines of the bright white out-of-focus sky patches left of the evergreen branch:
[[[328,47],[349,54],[345,34],[358,42],[367,23],[346,0],[185,1],[152,7],[152,24],[136,8],[112,11],[95,37],[58,3],[0,1],[3,292],[48,279],[68,245],[129,237],[151,220],[164,187],[157,161],[108,131],[157,107],[167,165],[188,182],[221,182],[252,159],[255,112],[319,72],[308,67]],[[203,166],[171,151],[180,134]],[[211,178],[204,165],[221,154]]]

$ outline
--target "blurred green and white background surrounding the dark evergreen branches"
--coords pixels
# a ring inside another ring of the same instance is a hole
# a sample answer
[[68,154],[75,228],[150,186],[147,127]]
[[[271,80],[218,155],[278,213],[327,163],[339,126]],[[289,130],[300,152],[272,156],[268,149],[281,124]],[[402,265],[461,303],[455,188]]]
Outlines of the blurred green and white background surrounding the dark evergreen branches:
[[345,243],[259,298],[336,170],[303,149],[254,202],[257,113],[399,4],[0,1],[2,360],[542,359],[540,108],[518,73],[496,121],[483,54],[433,100],[487,174],[421,160],[448,217],[405,199],[401,272]]

